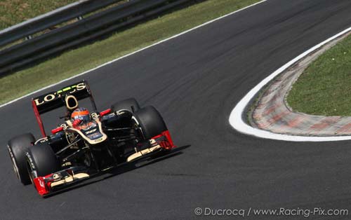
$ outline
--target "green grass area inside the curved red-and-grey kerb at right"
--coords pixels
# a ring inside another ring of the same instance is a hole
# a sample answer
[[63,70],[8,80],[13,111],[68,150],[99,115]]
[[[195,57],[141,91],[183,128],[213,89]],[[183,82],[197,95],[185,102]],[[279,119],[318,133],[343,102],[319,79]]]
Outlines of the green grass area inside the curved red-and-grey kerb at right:
[[294,111],[351,116],[351,36],[312,62],[288,95]]

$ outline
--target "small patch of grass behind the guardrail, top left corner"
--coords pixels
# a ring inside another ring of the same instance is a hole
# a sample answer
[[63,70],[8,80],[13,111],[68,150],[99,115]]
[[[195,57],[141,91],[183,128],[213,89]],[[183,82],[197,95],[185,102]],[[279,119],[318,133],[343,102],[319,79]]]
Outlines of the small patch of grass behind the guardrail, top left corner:
[[77,0],[0,0],[0,30]]

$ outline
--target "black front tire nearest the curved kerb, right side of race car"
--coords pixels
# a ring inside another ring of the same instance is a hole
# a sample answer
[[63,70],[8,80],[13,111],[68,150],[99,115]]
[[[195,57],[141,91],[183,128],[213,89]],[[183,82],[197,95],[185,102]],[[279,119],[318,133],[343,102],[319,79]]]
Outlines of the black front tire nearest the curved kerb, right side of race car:
[[146,106],[136,111],[134,118],[143,131],[145,139],[151,139],[152,137],[161,135],[161,132],[168,130],[164,119],[154,106]]

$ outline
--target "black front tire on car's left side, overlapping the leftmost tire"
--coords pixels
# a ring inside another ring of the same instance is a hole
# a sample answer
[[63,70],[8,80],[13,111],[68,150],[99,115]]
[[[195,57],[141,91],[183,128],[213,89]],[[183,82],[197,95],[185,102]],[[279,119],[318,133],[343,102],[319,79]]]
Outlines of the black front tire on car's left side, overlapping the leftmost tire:
[[[30,146],[27,152],[28,173],[37,172],[37,177],[44,177],[60,170],[60,163],[53,149],[47,143]],[[31,178],[35,178],[31,176]]]

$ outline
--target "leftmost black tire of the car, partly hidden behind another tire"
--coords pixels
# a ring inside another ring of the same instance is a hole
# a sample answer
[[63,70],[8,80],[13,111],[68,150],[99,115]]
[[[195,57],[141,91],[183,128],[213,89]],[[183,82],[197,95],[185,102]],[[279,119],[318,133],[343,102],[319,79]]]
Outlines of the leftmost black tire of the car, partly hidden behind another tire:
[[35,138],[31,133],[13,137],[8,141],[8,153],[10,154],[13,170],[23,185],[31,183],[27,172],[27,158],[25,154],[28,147],[34,142]]

